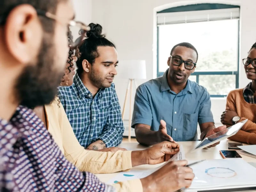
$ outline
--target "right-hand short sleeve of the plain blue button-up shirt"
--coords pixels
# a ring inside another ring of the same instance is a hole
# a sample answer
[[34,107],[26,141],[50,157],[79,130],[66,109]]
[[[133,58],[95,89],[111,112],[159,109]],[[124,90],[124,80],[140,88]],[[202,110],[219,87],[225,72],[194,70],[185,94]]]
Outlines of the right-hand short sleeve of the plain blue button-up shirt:
[[202,102],[200,104],[199,114],[198,114],[199,125],[203,123],[208,123],[208,122],[214,123],[212,111],[211,111],[211,97],[206,89],[204,90],[204,93],[201,99],[202,99]]

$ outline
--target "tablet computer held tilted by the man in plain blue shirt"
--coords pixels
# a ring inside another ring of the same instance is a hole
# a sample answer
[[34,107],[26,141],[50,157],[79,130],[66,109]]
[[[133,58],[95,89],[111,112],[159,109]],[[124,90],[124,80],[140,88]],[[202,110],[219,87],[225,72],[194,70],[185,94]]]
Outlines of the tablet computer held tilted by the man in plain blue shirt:
[[248,119],[245,119],[244,121],[237,123],[231,127],[228,127],[227,129],[224,129],[220,132],[217,132],[213,135],[210,135],[208,137],[205,137],[204,140],[202,140],[193,151],[196,151],[198,149],[206,148],[214,143],[217,143],[221,140],[227,139],[228,137],[231,137],[235,135],[248,121]]

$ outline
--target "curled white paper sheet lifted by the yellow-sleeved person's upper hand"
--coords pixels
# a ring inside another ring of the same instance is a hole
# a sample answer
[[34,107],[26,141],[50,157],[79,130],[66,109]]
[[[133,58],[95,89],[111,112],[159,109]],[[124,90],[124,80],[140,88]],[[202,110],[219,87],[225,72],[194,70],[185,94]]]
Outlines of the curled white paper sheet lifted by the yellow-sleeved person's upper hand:
[[[175,154],[169,161],[167,161],[165,164],[167,164],[170,161],[178,161],[185,159],[185,153],[182,145],[180,146],[179,153]],[[126,180],[134,180],[134,179],[142,179],[144,177],[147,177],[148,175],[152,174],[153,172],[156,172],[158,169],[163,167],[165,164],[156,167],[154,169],[146,169],[146,170],[134,170],[130,172],[120,172],[116,177],[112,178],[108,181],[108,184],[117,183],[120,181],[126,181]]]

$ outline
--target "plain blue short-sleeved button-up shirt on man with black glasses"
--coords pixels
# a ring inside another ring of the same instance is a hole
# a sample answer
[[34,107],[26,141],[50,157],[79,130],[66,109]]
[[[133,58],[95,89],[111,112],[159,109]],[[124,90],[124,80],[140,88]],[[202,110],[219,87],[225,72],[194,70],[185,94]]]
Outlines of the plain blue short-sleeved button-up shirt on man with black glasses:
[[158,131],[160,120],[166,122],[167,134],[175,141],[196,141],[197,122],[214,122],[210,94],[196,82],[188,80],[176,94],[167,82],[168,70],[162,77],[141,84],[136,92],[132,127],[147,124]]

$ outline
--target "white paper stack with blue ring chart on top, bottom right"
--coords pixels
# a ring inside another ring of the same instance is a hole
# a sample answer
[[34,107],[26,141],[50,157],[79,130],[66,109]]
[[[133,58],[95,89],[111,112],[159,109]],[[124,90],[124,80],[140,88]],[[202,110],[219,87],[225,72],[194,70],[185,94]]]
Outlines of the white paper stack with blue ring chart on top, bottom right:
[[191,168],[194,170],[195,179],[190,188],[181,191],[256,187],[256,168],[243,159],[207,160]]

